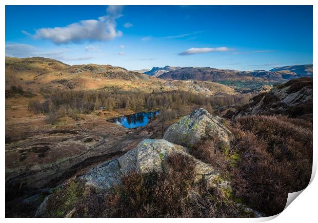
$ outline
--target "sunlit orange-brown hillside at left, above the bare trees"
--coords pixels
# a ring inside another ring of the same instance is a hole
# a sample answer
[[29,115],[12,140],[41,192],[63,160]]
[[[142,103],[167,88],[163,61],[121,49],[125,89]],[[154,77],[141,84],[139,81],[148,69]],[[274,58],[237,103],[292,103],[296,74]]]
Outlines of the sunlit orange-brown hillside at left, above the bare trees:
[[13,85],[21,85],[23,89],[45,86],[61,89],[99,89],[105,86],[127,88],[127,85],[136,86],[136,82],[159,84],[148,75],[110,65],[69,66],[43,57],[6,57],[6,88]]

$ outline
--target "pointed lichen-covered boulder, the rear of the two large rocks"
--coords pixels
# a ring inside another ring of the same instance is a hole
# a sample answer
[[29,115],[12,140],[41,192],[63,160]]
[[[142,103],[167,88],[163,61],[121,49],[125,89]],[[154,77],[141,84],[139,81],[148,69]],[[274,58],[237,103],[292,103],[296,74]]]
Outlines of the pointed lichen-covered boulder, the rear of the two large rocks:
[[190,148],[202,138],[211,136],[217,136],[223,143],[229,144],[232,133],[222,124],[222,120],[200,108],[171,125],[163,138]]

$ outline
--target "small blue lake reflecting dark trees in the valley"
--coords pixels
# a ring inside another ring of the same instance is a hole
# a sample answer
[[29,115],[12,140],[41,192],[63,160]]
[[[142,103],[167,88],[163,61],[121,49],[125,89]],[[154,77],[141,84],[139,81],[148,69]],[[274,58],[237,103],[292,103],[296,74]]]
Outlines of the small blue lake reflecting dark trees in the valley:
[[125,115],[121,117],[116,117],[109,119],[112,123],[119,124],[128,129],[133,129],[137,127],[147,126],[149,121],[155,118],[159,114],[159,111],[154,112],[140,112],[131,115]]

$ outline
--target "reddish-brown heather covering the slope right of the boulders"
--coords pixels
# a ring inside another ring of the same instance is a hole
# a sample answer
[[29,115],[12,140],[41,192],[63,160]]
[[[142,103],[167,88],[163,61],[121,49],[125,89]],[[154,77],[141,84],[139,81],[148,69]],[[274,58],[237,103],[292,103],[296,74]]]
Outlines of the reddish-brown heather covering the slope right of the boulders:
[[236,198],[267,215],[283,211],[287,194],[304,189],[312,169],[312,123],[286,116],[244,116],[232,121],[235,140],[207,139],[193,155],[231,180]]

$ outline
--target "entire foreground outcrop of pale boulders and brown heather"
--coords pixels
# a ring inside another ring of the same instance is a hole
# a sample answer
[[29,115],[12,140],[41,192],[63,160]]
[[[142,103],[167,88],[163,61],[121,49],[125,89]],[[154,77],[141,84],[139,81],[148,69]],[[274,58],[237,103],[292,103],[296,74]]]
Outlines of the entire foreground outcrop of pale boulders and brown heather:
[[197,109],[171,125],[163,139],[142,140],[70,179],[35,216],[270,216],[284,209],[289,192],[308,184],[311,152],[310,125],[299,119],[245,116],[228,122]]

